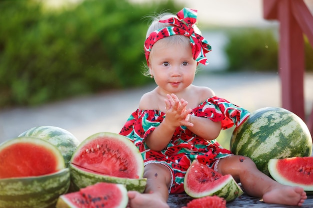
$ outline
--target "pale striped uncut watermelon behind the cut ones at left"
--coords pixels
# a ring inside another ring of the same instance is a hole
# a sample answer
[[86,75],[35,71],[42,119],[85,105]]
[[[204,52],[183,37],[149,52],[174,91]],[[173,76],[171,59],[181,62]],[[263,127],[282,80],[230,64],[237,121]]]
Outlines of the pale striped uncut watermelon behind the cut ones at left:
[[78,139],[65,129],[56,126],[38,126],[26,130],[18,137],[36,137],[53,144],[61,152],[66,167],[69,160],[79,145]]

